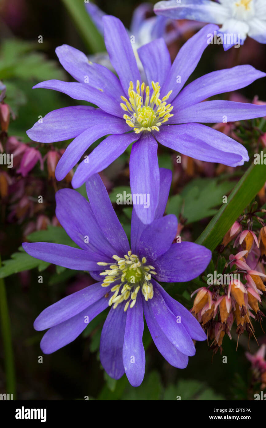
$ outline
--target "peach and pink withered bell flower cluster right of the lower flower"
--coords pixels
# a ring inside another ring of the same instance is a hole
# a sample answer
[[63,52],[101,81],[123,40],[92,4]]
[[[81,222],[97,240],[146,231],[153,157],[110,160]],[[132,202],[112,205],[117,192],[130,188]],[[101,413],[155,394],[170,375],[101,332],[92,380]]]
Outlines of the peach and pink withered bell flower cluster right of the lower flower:
[[[241,220],[246,221],[247,217]],[[261,217],[256,218],[263,226]],[[248,224],[251,226],[252,221]],[[238,252],[228,256],[223,273],[215,272],[214,280],[193,292],[196,297],[191,312],[205,329],[214,352],[218,349],[222,352],[225,335],[231,339],[234,323],[237,342],[244,331],[249,338],[255,338],[253,320],[261,321],[265,316],[259,305],[266,294],[266,226],[255,233],[251,229],[243,230],[241,221],[235,222],[224,236],[220,250],[224,251],[233,240],[231,248],[237,248]]]

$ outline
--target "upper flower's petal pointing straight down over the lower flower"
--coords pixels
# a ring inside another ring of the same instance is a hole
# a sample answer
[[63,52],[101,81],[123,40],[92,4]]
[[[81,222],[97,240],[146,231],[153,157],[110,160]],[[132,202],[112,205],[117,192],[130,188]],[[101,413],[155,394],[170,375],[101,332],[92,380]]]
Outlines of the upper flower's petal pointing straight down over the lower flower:
[[[134,205],[136,214],[144,224],[154,220],[159,199],[160,173],[157,143],[150,132],[144,133],[132,146],[129,160],[130,187],[134,196],[141,194],[146,205]],[[137,199],[136,199],[137,200]],[[149,200],[149,204],[148,204]],[[141,202],[141,201],[140,201]]]

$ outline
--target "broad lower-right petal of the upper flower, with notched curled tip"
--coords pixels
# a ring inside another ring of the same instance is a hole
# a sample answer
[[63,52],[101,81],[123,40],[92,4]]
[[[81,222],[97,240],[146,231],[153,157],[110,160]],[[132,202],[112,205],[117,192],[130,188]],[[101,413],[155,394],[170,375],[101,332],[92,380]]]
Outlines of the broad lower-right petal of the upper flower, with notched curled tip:
[[207,162],[237,166],[249,159],[242,144],[199,123],[166,125],[158,133],[158,141],[183,155]]

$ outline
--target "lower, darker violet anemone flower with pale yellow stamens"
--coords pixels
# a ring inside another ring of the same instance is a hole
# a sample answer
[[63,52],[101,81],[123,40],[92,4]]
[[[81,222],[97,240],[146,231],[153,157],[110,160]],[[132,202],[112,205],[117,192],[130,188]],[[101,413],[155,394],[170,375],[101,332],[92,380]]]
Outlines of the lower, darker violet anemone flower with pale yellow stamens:
[[[139,386],[145,372],[143,312],[158,351],[184,369],[195,354],[193,340],[206,335],[193,315],[157,281],[184,282],[208,266],[211,252],[191,242],[172,243],[174,215],[164,215],[172,174],[160,169],[155,220],[144,225],[133,208],[131,247],[98,174],[87,182],[88,202],[73,189],[56,193],[56,216],[80,248],[47,242],[23,243],[31,256],[70,269],[88,270],[98,282],[54,303],[36,318],[35,330],[49,329],[41,340],[51,354],[76,339],[96,315],[111,306],[102,328],[100,360],[109,376],[126,372]],[[89,239],[85,239],[85,237]]]

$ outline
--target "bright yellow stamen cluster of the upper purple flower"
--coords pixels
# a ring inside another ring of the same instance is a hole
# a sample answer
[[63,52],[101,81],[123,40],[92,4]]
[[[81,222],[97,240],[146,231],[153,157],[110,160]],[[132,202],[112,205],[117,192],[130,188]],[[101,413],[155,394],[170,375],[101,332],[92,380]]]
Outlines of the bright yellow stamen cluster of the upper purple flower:
[[170,114],[173,107],[166,102],[172,91],[160,99],[161,86],[159,83],[152,81],[152,89],[153,92],[150,95],[149,86],[145,88],[145,83],[140,86],[140,81],[137,80],[136,91],[134,91],[133,82],[130,82],[129,100],[121,95],[124,103],[121,103],[120,106],[130,115],[124,114],[123,117],[130,128],[134,128],[136,134],[142,131],[159,131],[159,126],[173,116]]

